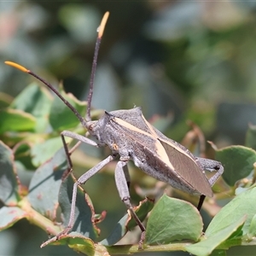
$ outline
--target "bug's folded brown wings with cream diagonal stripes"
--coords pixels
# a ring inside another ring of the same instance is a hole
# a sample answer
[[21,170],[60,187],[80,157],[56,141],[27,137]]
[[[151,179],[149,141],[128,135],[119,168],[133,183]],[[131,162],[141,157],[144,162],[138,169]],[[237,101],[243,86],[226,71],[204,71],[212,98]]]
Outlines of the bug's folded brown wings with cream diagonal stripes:
[[[183,148],[157,137],[153,126],[148,122],[148,131],[152,131],[151,133],[142,131],[123,119],[113,118],[112,121],[115,130],[125,133],[125,137],[129,137],[129,141],[136,145],[137,154],[139,149],[144,152],[148,166],[141,166],[143,171],[170,183],[177,189],[191,194],[199,192],[202,195],[212,196],[211,185],[203,170]],[[140,158],[143,159],[143,156]]]

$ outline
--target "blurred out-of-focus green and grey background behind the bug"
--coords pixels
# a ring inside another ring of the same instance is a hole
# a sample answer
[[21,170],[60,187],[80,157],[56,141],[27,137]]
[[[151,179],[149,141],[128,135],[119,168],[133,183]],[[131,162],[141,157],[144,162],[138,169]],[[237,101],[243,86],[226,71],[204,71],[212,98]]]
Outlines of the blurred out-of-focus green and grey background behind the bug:
[[[147,119],[168,116],[158,128],[178,142],[191,119],[218,147],[244,143],[247,124],[256,124],[255,2],[0,2],[0,91],[16,96],[34,80],[3,64],[15,61],[52,84],[63,80],[66,91],[86,99],[96,28],[105,11],[110,17],[95,108],[136,105]],[[107,207],[102,236],[125,212],[113,177],[107,177],[102,173],[86,186],[97,211]],[[44,232],[22,220],[0,233],[0,254],[73,253],[39,249],[45,240]]]

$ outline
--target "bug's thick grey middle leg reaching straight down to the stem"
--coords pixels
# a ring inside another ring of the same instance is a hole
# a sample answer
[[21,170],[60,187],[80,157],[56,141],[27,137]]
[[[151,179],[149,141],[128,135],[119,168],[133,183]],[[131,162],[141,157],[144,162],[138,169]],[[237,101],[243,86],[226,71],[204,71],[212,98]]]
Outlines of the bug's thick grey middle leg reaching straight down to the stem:
[[[119,191],[119,196],[121,198],[121,201],[125,203],[125,206],[127,209],[131,212],[132,218],[137,222],[138,226],[142,230],[142,235],[139,241],[139,249],[142,249],[143,247],[143,241],[145,239],[145,227],[143,223],[140,221],[140,219],[137,217],[137,214],[134,212],[133,208],[131,207],[131,201],[130,201],[130,193],[125,177],[125,166],[127,166],[127,161],[122,161],[119,160],[115,172],[114,172],[114,177],[115,177],[115,183],[117,186],[117,189]],[[128,171],[128,168],[127,168]]]

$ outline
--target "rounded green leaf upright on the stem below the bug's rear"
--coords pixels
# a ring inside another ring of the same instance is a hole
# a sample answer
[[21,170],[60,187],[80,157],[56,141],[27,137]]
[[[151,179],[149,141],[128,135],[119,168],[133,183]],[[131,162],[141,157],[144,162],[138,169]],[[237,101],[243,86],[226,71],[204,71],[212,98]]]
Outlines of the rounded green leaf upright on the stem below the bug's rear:
[[148,218],[147,244],[166,244],[189,239],[197,241],[202,233],[202,219],[189,202],[163,195]]

